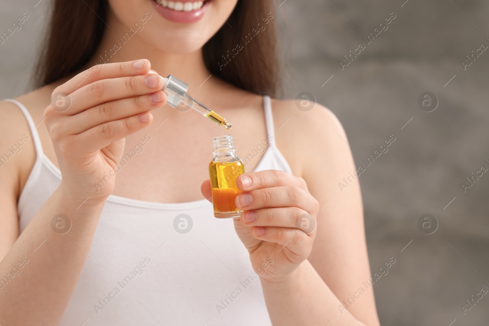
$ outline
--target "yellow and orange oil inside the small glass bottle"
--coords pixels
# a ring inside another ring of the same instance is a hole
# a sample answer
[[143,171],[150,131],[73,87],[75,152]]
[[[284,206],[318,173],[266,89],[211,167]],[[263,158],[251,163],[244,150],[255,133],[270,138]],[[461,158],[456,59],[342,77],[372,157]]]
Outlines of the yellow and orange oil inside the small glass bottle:
[[236,186],[236,178],[244,173],[244,164],[237,162],[216,162],[209,164],[214,216],[219,218],[240,217],[243,211],[236,207],[235,199],[242,191]]

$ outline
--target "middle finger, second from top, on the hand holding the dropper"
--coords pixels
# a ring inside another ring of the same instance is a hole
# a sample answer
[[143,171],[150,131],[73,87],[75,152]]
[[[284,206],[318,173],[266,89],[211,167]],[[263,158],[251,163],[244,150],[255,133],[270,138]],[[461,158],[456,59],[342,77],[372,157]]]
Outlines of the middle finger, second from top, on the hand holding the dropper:
[[102,79],[69,94],[71,102],[69,108],[58,112],[62,115],[75,115],[103,103],[155,93],[161,88],[163,88],[162,78],[155,73]]

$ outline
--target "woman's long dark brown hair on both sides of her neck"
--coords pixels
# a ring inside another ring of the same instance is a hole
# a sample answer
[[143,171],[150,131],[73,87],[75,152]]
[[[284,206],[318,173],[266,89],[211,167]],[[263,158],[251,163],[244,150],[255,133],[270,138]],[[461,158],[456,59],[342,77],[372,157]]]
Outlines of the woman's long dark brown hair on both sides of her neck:
[[[108,0],[54,0],[39,57],[37,86],[83,67],[106,28]],[[238,0],[231,16],[202,48],[212,75],[250,92],[276,97],[279,91],[277,32],[272,0]]]

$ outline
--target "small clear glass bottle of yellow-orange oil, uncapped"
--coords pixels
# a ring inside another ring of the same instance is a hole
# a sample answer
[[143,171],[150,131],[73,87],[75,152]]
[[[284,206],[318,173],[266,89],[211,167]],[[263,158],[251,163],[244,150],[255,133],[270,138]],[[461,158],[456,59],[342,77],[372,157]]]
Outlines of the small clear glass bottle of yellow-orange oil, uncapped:
[[236,208],[235,199],[242,191],[236,178],[244,173],[243,161],[236,155],[232,135],[217,136],[212,141],[214,159],[209,164],[214,216],[240,217],[243,211]]

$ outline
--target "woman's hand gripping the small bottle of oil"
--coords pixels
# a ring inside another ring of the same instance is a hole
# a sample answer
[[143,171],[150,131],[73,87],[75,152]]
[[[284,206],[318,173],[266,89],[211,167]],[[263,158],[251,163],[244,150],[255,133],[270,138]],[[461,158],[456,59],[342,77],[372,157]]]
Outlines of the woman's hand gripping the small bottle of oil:
[[[236,185],[243,191],[236,206],[244,212],[234,226],[253,268],[258,273],[271,257],[273,263],[261,278],[287,279],[311,253],[319,203],[302,178],[283,171],[241,174]],[[201,191],[210,197],[209,181],[202,183]]]

